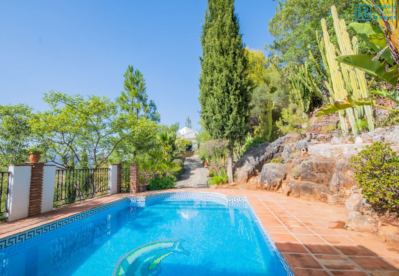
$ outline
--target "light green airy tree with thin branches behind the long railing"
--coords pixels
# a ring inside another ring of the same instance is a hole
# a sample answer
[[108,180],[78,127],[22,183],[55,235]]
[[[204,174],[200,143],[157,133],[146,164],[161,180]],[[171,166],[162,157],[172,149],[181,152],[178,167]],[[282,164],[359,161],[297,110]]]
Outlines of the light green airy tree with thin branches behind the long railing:
[[117,104],[106,97],[85,99],[50,91],[43,101],[50,110],[34,115],[32,131],[47,141],[51,153],[47,161],[58,166],[75,168],[89,163],[99,168],[132,135],[132,131],[120,131],[127,122],[116,119]]

